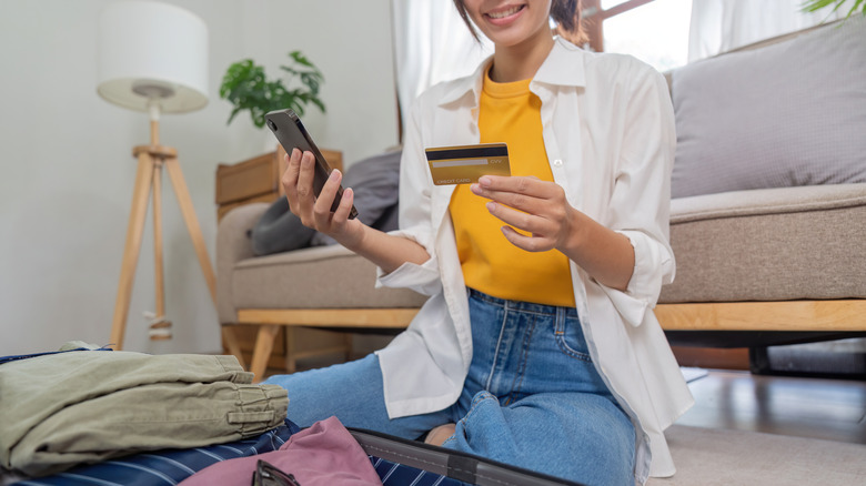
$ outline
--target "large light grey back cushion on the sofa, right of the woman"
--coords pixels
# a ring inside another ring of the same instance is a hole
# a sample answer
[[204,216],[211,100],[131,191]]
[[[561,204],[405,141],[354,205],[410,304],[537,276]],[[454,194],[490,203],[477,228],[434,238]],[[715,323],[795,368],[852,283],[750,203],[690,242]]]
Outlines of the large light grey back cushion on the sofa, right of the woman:
[[672,72],[674,198],[866,182],[866,18]]

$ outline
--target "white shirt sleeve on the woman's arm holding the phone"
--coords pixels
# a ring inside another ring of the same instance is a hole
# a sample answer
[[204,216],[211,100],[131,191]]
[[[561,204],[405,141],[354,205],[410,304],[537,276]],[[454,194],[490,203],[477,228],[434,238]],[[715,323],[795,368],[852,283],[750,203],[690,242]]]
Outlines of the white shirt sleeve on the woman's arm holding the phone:
[[426,172],[421,142],[422,103],[419,98],[411,110],[400,161],[400,230],[390,234],[415,241],[424,246],[430,260],[423,264],[404,263],[385,274],[376,273],[376,287],[405,287],[422,295],[433,295],[442,288],[435,251],[435,231],[431,224],[432,185]]

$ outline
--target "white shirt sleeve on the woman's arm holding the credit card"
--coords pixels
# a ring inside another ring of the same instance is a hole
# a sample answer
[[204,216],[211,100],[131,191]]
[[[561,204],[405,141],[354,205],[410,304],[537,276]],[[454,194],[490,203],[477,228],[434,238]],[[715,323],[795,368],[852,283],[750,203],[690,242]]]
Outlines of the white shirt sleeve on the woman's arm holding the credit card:
[[675,273],[668,242],[676,148],[674,112],[664,77],[644,68],[633,77],[611,200],[613,229],[628,237],[634,247],[634,272],[625,292],[602,286],[634,326],[641,325],[655,307],[662,285],[673,282]]

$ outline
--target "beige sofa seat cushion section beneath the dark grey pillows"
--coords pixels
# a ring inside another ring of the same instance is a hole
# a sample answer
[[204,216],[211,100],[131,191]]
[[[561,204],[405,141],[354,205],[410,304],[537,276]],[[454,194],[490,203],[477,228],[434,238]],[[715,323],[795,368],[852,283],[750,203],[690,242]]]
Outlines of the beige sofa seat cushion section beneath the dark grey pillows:
[[426,297],[375,288],[370,261],[340,245],[246,259],[232,272],[235,308],[420,307]]

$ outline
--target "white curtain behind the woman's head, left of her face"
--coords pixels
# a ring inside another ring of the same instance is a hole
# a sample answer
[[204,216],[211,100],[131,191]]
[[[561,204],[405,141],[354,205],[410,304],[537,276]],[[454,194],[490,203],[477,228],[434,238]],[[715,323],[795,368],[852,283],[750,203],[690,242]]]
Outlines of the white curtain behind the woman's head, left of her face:
[[472,73],[493,52],[475,41],[450,0],[392,0],[396,85],[403,122],[427,88]]

